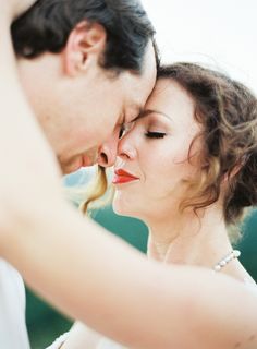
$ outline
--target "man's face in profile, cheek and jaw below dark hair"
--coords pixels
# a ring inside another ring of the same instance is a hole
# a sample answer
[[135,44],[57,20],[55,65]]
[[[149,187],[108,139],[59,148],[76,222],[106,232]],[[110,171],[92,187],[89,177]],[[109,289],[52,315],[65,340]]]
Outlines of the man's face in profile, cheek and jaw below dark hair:
[[115,148],[120,127],[138,115],[154,88],[156,60],[149,45],[140,75],[113,75],[97,61],[85,73],[68,74],[62,63],[61,55],[45,53],[20,59],[19,71],[63,173],[70,173],[95,164],[106,141]]

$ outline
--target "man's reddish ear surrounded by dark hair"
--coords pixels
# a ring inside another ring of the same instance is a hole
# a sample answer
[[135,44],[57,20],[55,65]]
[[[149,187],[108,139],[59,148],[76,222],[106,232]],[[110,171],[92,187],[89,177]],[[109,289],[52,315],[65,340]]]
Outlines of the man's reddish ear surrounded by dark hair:
[[70,33],[63,51],[64,71],[75,76],[97,63],[106,46],[106,31],[99,23],[78,23]]

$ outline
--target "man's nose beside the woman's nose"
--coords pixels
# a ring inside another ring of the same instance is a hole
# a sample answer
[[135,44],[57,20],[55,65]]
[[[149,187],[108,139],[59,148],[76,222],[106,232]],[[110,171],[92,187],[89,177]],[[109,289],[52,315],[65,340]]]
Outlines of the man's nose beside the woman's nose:
[[98,165],[102,167],[113,166],[117,159],[118,137],[113,136],[105,142],[98,151]]

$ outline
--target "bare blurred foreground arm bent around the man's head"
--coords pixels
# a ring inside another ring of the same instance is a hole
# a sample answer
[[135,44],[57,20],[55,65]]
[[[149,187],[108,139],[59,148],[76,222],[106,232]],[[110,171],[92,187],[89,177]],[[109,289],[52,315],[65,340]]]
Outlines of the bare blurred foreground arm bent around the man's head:
[[66,314],[127,347],[256,348],[256,291],[209,270],[147,261],[64,201],[16,79],[10,17],[1,17],[0,254]]

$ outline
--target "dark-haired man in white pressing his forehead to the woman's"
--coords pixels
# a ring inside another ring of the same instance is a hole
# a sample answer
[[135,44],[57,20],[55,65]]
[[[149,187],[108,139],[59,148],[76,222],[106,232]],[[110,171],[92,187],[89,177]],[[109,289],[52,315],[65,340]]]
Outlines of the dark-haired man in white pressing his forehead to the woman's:
[[[112,165],[122,124],[156,80],[154,28],[140,3],[41,0],[11,33],[20,81],[62,172]],[[0,275],[0,345],[28,347],[20,276],[4,261]]]

